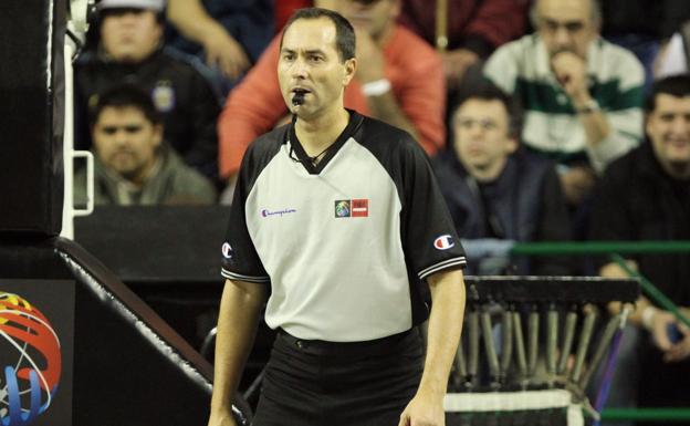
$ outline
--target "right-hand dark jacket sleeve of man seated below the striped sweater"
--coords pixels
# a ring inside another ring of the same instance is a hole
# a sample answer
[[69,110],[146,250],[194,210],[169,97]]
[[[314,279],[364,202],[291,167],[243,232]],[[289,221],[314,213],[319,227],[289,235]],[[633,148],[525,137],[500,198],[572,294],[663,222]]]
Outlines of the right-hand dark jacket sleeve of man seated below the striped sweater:
[[[550,167],[542,186],[542,209],[537,225],[536,241],[567,241],[571,239],[571,218],[561,188],[558,175]],[[569,276],[575,260],[565,256],[537,257],[534,273],[539,276]]]

